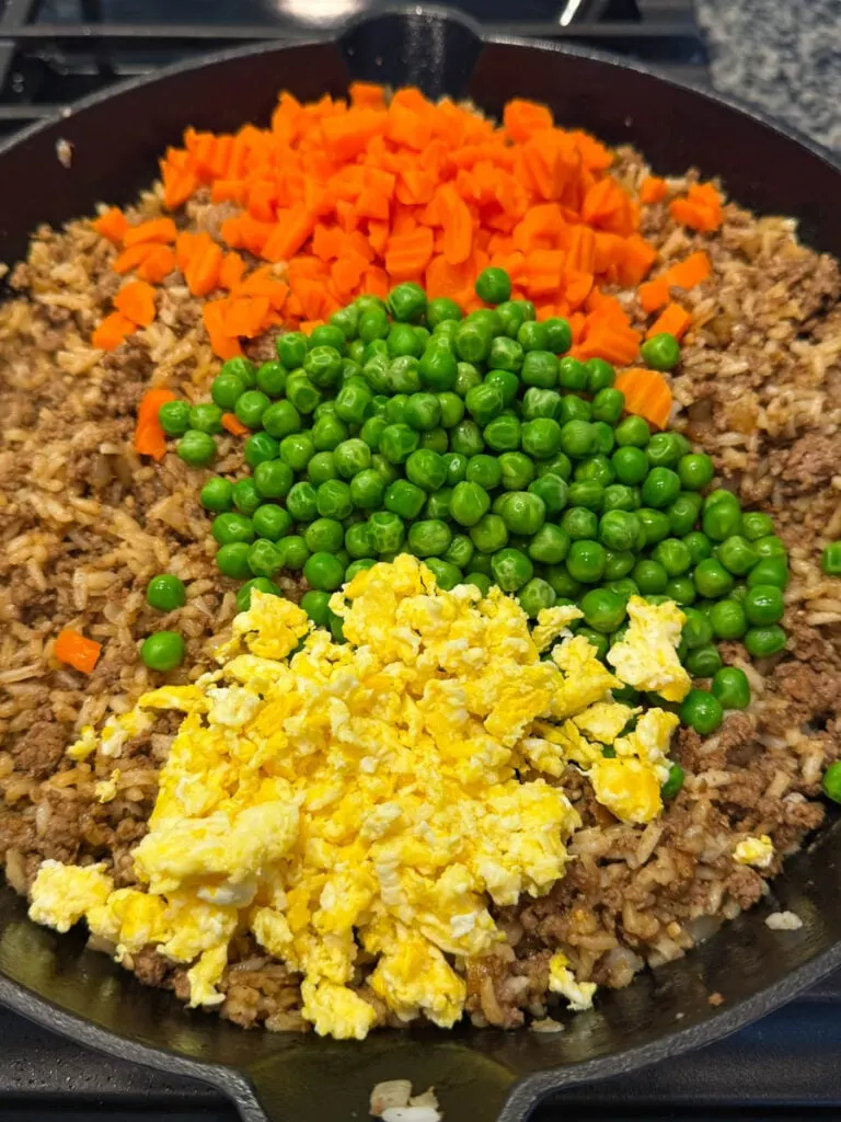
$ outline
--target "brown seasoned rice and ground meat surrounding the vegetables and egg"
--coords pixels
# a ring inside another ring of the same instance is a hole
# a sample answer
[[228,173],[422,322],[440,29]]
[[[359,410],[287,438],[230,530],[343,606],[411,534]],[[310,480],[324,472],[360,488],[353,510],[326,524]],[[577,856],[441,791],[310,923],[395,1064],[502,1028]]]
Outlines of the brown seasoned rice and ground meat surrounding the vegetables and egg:
[[[645,164],[628,149],[619,157],[617,174],[634,190]],[[159,210],[148,193],[135,218]],[[186,221],[212,230],[218,212],[196,200]],[[645,222],[665,260],[701,247],[712,259],[713,278],[684,301],[693,328],[673,386],[677,427],[713,457],[719,481],[775,518],[791,551],[788,646],[751,664],[740,644],[726,644],[754,701],[705,741],[677,734],[673,754],[687,778],[662,818],[617,822],[577,773],[564,776],[584,819],[571,847],[577,859],[549,895],[498,913],[507,945],[468,972],[478,1024],[511,1028],[527,1013],[545,1015],[557,949],[579,981],[619,987],[756,903],[782,857],[821,825],[820,778],[841,755],[841,580],[820,569],[821,548],[841,536],[839,266],[801,247],[789,220],[757,219],[732,203],[713,236],[676,227],[665,205]],[[126,711],[149,688],[137,656],[145,635],[177,626],[185,669],[167,678],[193,680],[234,613],[235,585],[219,576],[198,503],[207,472],[172,452],[160,466],[144,462],[130,439],[150,385],[205,395],[218,362],[200,303],[168,283],[155,324],[103,357],[86,340],[118,285],[112,257],[87,221],[39,230],[12,274],[17,297],[0,305],[0,856],[21,893],[47,857],[104,861],[119,886],[135,882],[130,852],[176,718],[165,715],[123,749],[111,802],[94,798],[110,761],[78,764],[64,749],[82,724]],[[619,295],[641,322],[634,294]],[[266,346],[258,341],[255,356]],[[218,470],[238,469],[237,449],[220,440]],[[187,585],[187,605],[172,619],[145,601],[160,571]],[[301,594],[293,580],[285,590]],[[50,657],[62,626],[103,643],[90,677]],[[774,842],[771,867],[734,864],[736,837],[763,833]],[[184,969],[153,949],[124,965],[187,996]],[[385,1022],[385,1009],[360,987]],[[221,988],[222,1015],[239,1024],[305,1027],[295,977],[250,937],[232,946]]]

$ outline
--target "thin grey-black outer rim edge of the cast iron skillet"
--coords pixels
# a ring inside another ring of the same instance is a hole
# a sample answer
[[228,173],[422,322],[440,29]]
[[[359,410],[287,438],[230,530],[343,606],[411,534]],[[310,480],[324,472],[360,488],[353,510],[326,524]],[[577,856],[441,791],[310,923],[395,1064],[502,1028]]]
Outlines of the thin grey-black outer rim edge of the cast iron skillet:
[[[570,42],[554,42],[540,38],[525,38],[515,35],[483,34],[481,27],[470,17],[434,4],[388,6],[376,13],[362,13],[341,24],[324,34],[290,36],[288,39],[272,38],[269,42],[252,42],[246,46],[231,47],[222,50],[200,54],[187,59],[173,63],[150,74],[128,79],[109,86],[107,90],[89,94],[73,102],[67,110],[58,110],[49,117],[35,122],[11,137],[0,141],[0,160],[2,157],[28,142],[30,139],[46,134],[49,129],[61,126],[63,121],[75,118],[78,113],[92,109],[105,101],[119,98],[121,94],[167,79],[204,70],[229,61],[249,58],[272,52],[289,50],[295,47],[312,47],[332,45],[342,50],[342,43],[349,33],[357,31],[370,24],[380,21],[383,17],[399,16],[410,19],[433,19],[442,24],[460,26],[469,30],[482,45],[501,45],[537,49],[546,54],[566,55],[607,65],[613,71],[643,74],[654,79],[660,86],[676,89],[718,104],[740,116],[748,117],[782,137],[786,142],[804,148],[812,156],[825,164],[830,171],[841,176],[841,158],[834,156],[824,146],[812,140],[789,125],[783,125],[766,114],[763,110],[731,95],[720,94],[714,90],[704,89],[691,80],[680,80],[672,75],[660,74],[656,67],[648,66],[636,59],[620,55],[583,47]],[[10,890],[12,891],[12,890]],[[747,913],[746,913],[747,914]],[[631,1070],[646,1067],[666,1057],[680,1055],[695,1048],[720,1040],[743,1028],[785,1004],[802,991],[819,982],[831,971],[841,967],[841,940],[814,958],[785,974],[778,982],[761,988],[750,997],[742,999],[731,1008],[722,1006],[706,1020],[684,1029],[677,1028],[665,1033],[658,1040],[646,1045],[627,1048],[613,1056],[604,1056],[562,1068],[546,1068],[519,1078],[512,1077],[510,1089],[497,1122],[525,1122],[528,1114],[540,1100],[561,1091],[595,1078],[611,1078]],[[129,1063],[141,1064],[173,1075],[186,1076],[203,1083],[209,1083],[227,1094],[239,1109],[244,1122],[264,1122],[267,1113],[259,1105],[259,1094],[250,1074],[232,1065],[198,1060],[183,1052],[140,1043],[130,1037],[123,1037],[111,1030],[101,1028],[95,1022],[67,1012],[61,1005],[46,997],[38,996],[21,983],[0,974],[0,1004],[30,1021],[53,1032],[68,1037],[85,1047],[93,1048],[107,1055],[115,1056]]]

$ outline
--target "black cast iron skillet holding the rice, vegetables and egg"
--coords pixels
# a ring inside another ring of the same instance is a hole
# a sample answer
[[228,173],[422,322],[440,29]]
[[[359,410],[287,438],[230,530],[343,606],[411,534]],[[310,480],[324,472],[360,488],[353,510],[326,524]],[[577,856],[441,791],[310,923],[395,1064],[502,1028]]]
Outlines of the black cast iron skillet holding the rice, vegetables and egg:
[[[157,173],[157,157],[192,123],[230,129],[265,121],[277,91],[343,94],[351,79],[416,84],[470,98],[499,114],[512,96],[548,103],[562,123],[630,141],[663,173],[690,165],[720,175],[760,212],[801,219],[806,240],[841,255],[841,174],[823,153],[720,99],[625,62],[547,44],[483,39],[462,19],[429,10],[350,25],[336,40],[235,50],[173,67],[91,98],[67,119],[0,149],[0,260],[26,251],[39,222],[129,201]],[[73,164],[56,159],[59,138]],[[774,895],[678,963],[606,993],[564,1033],[463,1029],[373,1034],[362,1043],[243,1032],[188,1012],[140,986],[81,935],[56,936],[26,919],[0,890],[0,1001],[84,1045],[216,1085],[243,1119],[335,1122],[367,1116],[371,1086],[435,1084],[449,1122],[521,1122],[543,1096],[621,1075],[709,1042],[767,1013],[841,965],[841,834],[835,822],[786,865]],[[773,932],[769,911],[792,909],[795,932]],[[724,997],[710,1005],[710,993]]]

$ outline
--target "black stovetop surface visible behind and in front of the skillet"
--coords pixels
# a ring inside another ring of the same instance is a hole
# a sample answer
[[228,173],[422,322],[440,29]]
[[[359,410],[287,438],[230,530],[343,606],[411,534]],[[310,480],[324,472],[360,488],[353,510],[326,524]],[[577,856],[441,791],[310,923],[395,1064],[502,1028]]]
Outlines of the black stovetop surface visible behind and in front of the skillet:
[[[0,0],[0,134],[123,76],[233,44],[309,35],[385,2]],[[706,53],[691,0],[459,0],[455,7],[495,30],[569,37],[705,80]],[[839,1118],[840,1055],[841,975],[702,1051],[567,1091],[535,1119],[727,1122],[802,1118],[805,1107]],[[0,1011],[0,1122],[235,1116],[213,1088],[84,1051]]]

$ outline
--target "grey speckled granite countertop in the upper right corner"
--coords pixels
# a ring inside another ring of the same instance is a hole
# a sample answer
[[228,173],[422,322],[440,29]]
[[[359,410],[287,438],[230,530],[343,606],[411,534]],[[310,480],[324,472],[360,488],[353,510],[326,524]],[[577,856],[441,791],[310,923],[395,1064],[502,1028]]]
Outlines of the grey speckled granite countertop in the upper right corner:
[[696,0],[721,93],[841,150],[841,0]]

